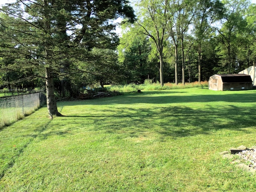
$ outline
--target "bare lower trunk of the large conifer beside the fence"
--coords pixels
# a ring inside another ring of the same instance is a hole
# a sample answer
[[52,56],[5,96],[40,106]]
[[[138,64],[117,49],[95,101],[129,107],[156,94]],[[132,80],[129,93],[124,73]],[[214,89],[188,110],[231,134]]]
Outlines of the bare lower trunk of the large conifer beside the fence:
[[53,118],[54,115],[62,116],[62,114],[58,112],[57,102],[54,95],[53,75],[50,68],[46,68],[46,103],[51,118]]

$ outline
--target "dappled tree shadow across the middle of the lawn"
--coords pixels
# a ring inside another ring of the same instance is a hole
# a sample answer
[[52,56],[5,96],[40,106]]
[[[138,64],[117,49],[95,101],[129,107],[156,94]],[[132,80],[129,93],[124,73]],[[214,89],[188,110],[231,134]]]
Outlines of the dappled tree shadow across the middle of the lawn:
[[213,131],[221,129],[248,132],[245,128],[255,126],[254,109],[255,106],[244,108],[235,105],[224,108],[207,106],[204,109],[188,106],[153,109],[126,107],[103,110],[98,115],[71,115],[63,118],[72,117],[74,126],[90,126],[90,131],[103,131],[107,134],[129,133],[133,136],[156,132],[161,136],[175,139],[197,134],[212,134]]

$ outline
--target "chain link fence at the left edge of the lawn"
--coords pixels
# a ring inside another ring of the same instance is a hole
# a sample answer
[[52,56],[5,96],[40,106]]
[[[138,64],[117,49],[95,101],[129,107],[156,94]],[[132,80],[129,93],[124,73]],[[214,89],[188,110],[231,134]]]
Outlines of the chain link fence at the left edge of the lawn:
[[44,91],[0,97],[0,127],[19,120],[45,103]]

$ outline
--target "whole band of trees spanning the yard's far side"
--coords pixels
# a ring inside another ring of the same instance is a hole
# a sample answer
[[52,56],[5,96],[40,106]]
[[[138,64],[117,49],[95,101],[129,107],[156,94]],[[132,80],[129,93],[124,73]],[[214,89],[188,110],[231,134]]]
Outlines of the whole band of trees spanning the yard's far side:
[[[0,9],[0,89],[194,82],[256,61],[248,0],[17,0]],[[122,37],[115,34],[123,18]],[[46,83],[45,83],[46,82]],[[51,96],[50,96],[51,95]]]

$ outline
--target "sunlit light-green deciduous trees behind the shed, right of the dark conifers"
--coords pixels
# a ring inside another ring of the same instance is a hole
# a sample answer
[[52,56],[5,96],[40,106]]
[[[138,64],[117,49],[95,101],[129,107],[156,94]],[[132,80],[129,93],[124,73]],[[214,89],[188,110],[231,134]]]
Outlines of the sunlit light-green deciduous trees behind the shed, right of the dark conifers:
[[118,46],[130,82],[200,82],[255,66],[256,6],[248,0],[142,0],[135,10]]

